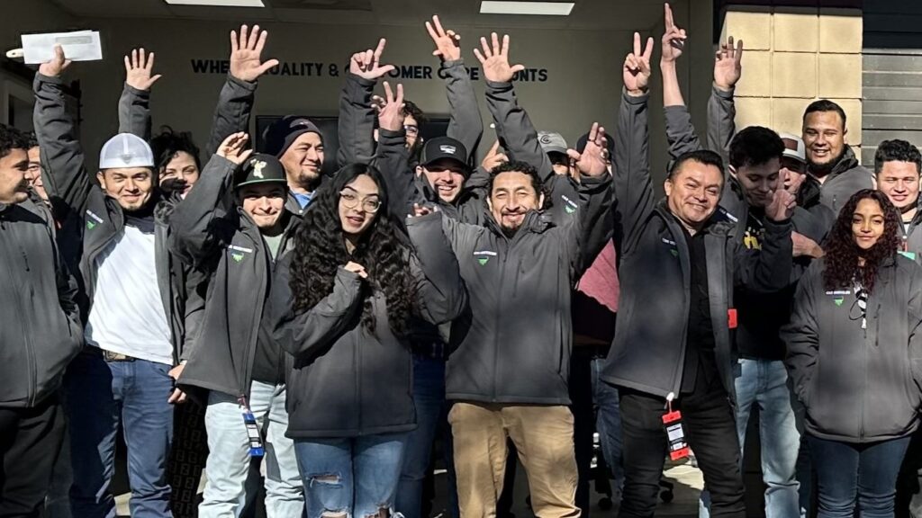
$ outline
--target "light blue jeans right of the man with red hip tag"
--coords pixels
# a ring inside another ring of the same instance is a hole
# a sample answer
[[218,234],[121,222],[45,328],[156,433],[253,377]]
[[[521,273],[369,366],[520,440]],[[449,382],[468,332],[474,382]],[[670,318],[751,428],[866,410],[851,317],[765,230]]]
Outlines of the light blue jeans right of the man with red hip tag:
[[[766,518],[801,515],[797,479],[798,432],[787,371],[781,360],[740,359],[737,392],[737,433],[739,451],[745,450],[746,429],[752,406],[759,408],[759,439],[762,444],[762,480],[765,489]],[[708,516],[708,495],[702,495],[699,517]]]

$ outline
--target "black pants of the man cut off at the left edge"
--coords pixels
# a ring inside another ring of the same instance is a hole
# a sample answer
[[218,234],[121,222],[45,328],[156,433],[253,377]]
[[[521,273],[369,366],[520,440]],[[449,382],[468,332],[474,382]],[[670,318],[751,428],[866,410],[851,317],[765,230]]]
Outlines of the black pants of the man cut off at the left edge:
[[32,408],[0,408],[0,517],[38,517],[64,442],[56,396]]

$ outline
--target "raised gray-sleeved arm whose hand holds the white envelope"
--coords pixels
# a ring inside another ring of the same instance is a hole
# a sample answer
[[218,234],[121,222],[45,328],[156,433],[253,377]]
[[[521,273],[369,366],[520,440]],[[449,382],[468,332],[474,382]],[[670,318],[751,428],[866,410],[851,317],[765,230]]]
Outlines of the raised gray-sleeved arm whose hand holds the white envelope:
[[65,106],[61,75],[68,65],[64,49],[56,45],[52,61],[39,67],[32,83],[35,91],[33,124],[46,173],[42,177],[45,190],[53,202],[60,200],[82,218],[94,187],[77,139],[77,125]]

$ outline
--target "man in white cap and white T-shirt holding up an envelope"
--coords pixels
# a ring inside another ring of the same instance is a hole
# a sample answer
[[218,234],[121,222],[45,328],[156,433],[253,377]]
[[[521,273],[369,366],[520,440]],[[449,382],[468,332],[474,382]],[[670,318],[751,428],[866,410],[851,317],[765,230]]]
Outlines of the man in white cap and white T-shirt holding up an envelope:
[[136,135],[115,135],[100,152],[99,185],[91,182],[65,109],[60,76],[67,65],[56,47],[52,61],[41,65],[34,90],[45,188],[85,223],[79,274],[89,347],[71,363],[66,381],[72,511],[90,518],[115,515],[109,486],[121,421],[132,515],[171,516],[168,398],[184,333],[183,276],[174,269],[166,222],[158,216],[162,195],[148,144]]

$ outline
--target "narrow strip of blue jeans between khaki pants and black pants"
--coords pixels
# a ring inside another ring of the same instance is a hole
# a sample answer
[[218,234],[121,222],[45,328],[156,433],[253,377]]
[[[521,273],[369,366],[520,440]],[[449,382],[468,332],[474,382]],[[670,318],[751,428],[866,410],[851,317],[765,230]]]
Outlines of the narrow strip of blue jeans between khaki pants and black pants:
[[596,431],[598,443],[602,448],[605,464],[609,465],[611,475],[615,477],[615,489],[621,491],[624,485],[624,465],[621,461],[621,407],[618,403],[618,389],[599,379],[604,358],[592,360],[592,393],[596,400]]

